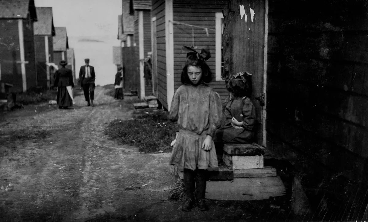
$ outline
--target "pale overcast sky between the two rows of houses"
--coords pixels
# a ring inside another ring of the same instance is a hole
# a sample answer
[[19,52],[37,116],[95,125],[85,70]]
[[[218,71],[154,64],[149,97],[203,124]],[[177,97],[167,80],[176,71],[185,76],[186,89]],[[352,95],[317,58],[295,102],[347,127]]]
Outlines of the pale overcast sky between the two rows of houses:
[[[35,0],[35,6],[52,7],[54,26],[67,28],[69,47],[75,52],[77,76],[84,58],[89,58],[96,70],[96,84],[114,83],[116,66],[112,46],[120,45],[117,25],[121,0]],[[86,37],[98,41],[79,41]]]

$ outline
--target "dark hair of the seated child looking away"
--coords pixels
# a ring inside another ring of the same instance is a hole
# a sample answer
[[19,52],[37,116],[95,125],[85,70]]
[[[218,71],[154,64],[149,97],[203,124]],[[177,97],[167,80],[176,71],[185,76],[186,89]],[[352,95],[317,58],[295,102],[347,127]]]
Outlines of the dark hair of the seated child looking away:
[[252,95],[252,79],[251,76],[243,76],[245,82],[241,78],[230,79],[227,84],[227,90],[234,94],[234,97],[251,97]]

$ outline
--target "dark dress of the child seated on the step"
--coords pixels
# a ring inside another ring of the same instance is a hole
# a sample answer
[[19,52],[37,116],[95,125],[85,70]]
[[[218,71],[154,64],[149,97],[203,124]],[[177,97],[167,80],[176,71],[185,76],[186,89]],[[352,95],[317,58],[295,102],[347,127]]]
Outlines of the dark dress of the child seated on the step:
[[[231,118],[243,122],[242,126],[231,124]],[[225,126],[216,132],[216,142],[249,143],[254,132],[255,108],[249,97],[235,97],[225,108]]]

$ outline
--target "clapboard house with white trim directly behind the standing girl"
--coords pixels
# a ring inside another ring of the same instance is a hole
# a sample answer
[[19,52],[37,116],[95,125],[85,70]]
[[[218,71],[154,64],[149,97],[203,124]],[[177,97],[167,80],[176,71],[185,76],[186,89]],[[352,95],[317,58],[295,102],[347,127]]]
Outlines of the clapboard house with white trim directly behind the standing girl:
[[174,91],[182,84],[180,75],[184,67],[183,46],[194,46],[200,51],[208,49],[207,61],[213,73],[209,84],[223,102],[229,93],[222,72],[222,8],[219,0],[153,0],[152,1],[152,58],[153,91],[163,107],[170,110]]

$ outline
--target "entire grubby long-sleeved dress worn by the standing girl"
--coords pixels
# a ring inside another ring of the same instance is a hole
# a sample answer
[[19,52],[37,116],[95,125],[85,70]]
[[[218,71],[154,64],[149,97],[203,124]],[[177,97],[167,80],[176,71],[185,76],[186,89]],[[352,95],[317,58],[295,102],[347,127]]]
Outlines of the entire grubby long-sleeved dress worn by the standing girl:
[[175,92],[170,109],[170,119],[177,120],[179,127],[170,164],[191,170],[217,167],[214,143],[209,151],[202,149],[202,145],[206,136],[213,138],[221,126],[219,94],[204,83],[185,84]]

